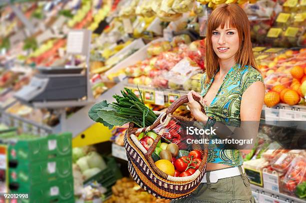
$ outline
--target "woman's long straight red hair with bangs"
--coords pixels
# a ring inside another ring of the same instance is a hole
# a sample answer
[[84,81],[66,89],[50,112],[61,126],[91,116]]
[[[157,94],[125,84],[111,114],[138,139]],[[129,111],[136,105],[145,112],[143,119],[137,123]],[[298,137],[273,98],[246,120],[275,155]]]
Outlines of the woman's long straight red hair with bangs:
[[221,25],[223,29],[225,25],[236,28],[239,36],[239,49],[235,54],[236,63],[241,67],[250,65],[257,68],[254,55],[252,52],[252,44],[250,41],[250,26],[246,13],[235,3],[223,3],[211,12],[208,18],[206,31],[206,80],[209,82],[215,74],[219,66],[219,58],[212,48],[211,35],[212,31]]

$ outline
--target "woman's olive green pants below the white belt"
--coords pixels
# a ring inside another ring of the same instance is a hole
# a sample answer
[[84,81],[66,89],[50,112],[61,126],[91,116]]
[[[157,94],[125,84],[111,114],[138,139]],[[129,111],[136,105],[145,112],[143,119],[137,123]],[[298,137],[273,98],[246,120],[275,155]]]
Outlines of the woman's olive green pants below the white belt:
[[239,171],[241,175],[219,179],[216,183],[210,183],[210,172],[207,172],[207,183],[201,183],[190,196],[171,203],[256,203],[246,174],[241,167]]

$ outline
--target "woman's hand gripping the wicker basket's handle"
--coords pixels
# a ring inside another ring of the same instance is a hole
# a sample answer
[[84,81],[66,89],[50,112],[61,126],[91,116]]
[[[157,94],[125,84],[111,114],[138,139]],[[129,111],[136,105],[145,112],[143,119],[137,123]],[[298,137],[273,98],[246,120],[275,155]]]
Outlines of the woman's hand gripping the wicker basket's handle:
[[206,102],[201,95],[194,92],[193,90],[188,92],[188,94],[187,94],[187,97],[188,97],[187,106],[189,107],[192,116],[198,121],[206,121],[208,119],[208,117],[201,111],[200,104],[193,99],[192,95],[199,97],[200,101],[202,103]]

